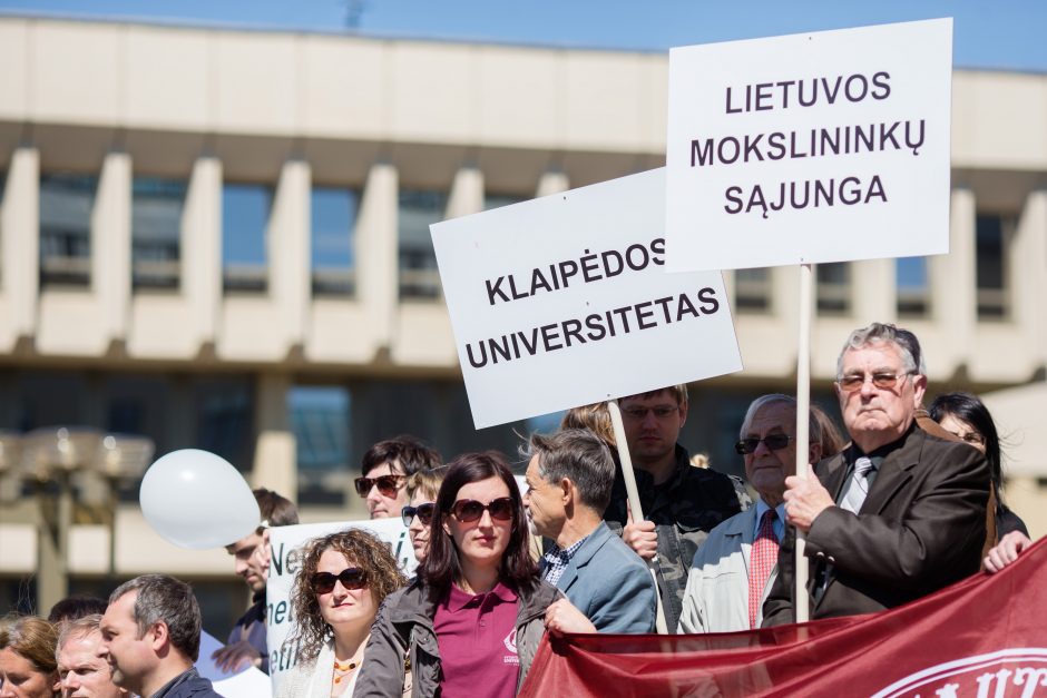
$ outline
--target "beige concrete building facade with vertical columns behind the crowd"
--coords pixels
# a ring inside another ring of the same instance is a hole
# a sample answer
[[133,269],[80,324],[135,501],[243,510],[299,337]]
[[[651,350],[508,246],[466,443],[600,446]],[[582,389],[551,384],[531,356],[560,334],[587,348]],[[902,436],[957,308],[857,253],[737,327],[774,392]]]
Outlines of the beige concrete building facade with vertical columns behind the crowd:
[[[510,426],[472,429],[428,224],[665,159],[664,55],[8,16],[0,63],[0,430],[207,448],[306,520],[363,511],[350,481],[380,438],[515,446]],[[1047,76],[957,70],[952,108],[951,252],[819,267],[812,390],[832,404],[850,330],[913,330],[931,395],[994,409],[1006,495],[1039,535]],[[692,386],[686,436],[737,472],[745,405],[794,386],[799,282],[725,278],[745,370]],[[80,512],[75,578],[228,578],[223,551],[151,534],[136,491],[111,559]],[[37,569],[36,504],[16,468],[0,493],[10,600]]]

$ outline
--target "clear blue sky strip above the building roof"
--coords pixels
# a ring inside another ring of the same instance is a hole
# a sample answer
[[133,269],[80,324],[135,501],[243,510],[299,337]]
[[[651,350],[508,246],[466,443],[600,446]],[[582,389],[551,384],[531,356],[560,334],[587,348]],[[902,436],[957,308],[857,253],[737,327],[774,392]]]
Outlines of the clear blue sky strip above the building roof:
[[672,46],[955,17],[955,65],[1047,72],[1043,0],[0,0],[6,11],[664,51]]

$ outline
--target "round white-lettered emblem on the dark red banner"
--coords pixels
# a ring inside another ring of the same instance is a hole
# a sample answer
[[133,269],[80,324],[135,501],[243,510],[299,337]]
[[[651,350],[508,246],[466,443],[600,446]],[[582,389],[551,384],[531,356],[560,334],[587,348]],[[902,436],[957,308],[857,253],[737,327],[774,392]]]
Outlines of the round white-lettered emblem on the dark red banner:
[[[1039,689],[1045,690],[1039,690]],[[923,669],[872,698],[1033,698],[1047,695],[1047,648],[1005,649]]]

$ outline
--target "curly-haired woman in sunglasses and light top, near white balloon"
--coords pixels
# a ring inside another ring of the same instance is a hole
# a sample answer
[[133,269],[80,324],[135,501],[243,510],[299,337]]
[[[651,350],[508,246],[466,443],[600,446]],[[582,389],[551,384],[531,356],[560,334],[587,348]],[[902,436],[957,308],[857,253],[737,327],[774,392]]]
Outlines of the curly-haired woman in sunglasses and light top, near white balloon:
[[309,543],[291,592],[297,663],[277,698],[352,696],[375,613],[405,583],[389,545],[366,531]]

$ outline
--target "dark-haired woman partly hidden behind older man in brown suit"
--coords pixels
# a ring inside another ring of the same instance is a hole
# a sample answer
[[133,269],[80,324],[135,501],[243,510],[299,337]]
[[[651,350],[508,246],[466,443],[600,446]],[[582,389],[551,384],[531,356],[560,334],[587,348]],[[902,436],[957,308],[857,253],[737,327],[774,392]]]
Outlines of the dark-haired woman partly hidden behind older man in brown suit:
[[947,432],[981,451],[989,461],[992,490],[996,493],[996,532],[998,538],[1011,531],[1028,537],[1029,531],[1018,514],[1004,505],[1004,469],[1000,438],[989,409],[970,393],[946,393],[931,403],[928,413]]

